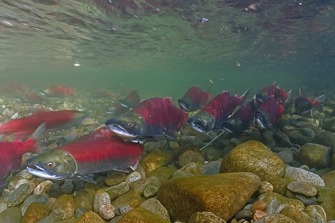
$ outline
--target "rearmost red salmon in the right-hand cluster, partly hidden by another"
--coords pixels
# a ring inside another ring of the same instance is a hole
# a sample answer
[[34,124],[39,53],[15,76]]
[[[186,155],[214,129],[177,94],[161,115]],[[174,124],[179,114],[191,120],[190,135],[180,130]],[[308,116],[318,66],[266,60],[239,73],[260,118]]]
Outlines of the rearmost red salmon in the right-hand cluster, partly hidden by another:
[[276,82],[271,84],[270,86],[265,87],[264,89],[260,90],[255,95],[255,103],[260,106],[262,102],[267,98],[268,96],[274,95],[274,100],[278,102],[279,105],[285,105],[285,102],[288,101],[290,98],[291,91],[284,91],[282,89],[279,89]]

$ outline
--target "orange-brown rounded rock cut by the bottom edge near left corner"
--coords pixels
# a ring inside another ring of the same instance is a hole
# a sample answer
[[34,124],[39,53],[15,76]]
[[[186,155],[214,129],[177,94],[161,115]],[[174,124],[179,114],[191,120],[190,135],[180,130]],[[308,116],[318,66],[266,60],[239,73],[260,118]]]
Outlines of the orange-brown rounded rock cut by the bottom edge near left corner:
[[35,223],[49,214],[50,210],[44,203],[33,202],[28,206],[26,213],[24,213],[22,223]]

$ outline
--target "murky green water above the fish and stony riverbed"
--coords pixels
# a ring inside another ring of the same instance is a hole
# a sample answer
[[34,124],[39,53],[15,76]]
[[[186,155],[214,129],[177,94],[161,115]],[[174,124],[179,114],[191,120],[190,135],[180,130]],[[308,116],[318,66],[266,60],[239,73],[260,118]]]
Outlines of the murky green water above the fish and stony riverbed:
[[334,10],[334,1],[1,1],[1,82],[117,85],[143,98],[196,84],[213,94],[273,81],[322,90],[334,83]]

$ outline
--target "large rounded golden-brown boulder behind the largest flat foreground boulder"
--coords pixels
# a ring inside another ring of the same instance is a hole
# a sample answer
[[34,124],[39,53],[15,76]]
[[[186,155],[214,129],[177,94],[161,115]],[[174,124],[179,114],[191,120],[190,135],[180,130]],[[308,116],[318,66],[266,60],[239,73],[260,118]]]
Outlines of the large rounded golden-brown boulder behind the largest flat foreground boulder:
[[285,174],[283,160],[260,141],[246,141],[223,157],[221,173],[251,172],[261,180],[281,178]]

